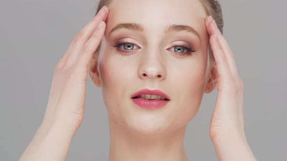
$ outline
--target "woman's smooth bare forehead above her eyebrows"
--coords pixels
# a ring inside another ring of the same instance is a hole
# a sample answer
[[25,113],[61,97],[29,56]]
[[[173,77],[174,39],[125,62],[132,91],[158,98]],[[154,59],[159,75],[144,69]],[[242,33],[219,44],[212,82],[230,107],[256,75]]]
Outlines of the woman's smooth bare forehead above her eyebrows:
[[162,30],[170,24],[204,28],[206,16],[200,0],[111,0],[107,31],[119,23],[140,23],[146,31]]

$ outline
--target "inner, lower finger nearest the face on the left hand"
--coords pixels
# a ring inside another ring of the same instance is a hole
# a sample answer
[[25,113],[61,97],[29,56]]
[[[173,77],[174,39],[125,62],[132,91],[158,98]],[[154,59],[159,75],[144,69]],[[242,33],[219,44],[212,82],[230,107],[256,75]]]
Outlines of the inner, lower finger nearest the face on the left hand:
[[88,66],[93,53],[98,48],[102,40],[102,37],[104,36],[105,29],[106,29],[106,23],[104,21],[101,21],[99,25],[97,26],[95,32],[92,34],[90,39],[87,41],[87,43],[82,48],[81,54],[78,55],[77,64],[80,64],[81,66],[83,65]]

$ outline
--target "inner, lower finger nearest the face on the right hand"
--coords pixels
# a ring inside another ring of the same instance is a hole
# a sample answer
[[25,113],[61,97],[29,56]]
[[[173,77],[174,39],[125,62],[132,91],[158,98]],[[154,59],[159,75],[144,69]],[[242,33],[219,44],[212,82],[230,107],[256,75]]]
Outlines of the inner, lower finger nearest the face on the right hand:
[[210,46],[214,54],[219,78],[222,79],[222,78],[230,77],[230,74],[231,74],[230,68],[227,63],[226,57],[218,43],[218,36],[216,34],[213,34],[210,37]]

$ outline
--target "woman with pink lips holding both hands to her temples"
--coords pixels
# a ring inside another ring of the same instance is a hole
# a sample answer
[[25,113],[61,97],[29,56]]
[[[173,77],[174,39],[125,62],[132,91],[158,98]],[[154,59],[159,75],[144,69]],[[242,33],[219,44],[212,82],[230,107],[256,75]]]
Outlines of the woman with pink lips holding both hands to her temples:
[[56,65],[43,122],[20,161],[66,159],[88,71],[108,110],[109,161],[187,161],[186,125],[216,86],[210,138],[218,159],[255,161],[222,27],[216,0],[101,0]]

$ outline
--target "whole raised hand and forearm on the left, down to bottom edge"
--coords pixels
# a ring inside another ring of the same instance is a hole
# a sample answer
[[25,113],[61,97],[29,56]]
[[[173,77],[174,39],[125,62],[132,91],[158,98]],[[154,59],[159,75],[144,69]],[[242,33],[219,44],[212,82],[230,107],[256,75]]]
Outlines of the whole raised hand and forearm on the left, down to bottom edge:
[[88,66],[106,30],[104,6],[73,39],[54,68],[43,122],[20,161],[64,161],[84,117]]

